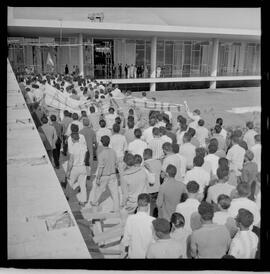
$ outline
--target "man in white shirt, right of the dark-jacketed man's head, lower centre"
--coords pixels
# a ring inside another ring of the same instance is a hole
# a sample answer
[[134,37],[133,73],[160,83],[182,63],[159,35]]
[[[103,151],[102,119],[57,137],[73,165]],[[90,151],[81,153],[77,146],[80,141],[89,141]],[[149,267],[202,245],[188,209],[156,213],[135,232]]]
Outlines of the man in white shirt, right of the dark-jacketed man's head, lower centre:
[[203,194],[205,187],[209,185],[210,181],[210,175],[202,167],[203,164],[203,158],[201,156],[195,156],[193,160],[194,167],[191,170],[187,171],[184,179],[184,184],[187,184],[189,181],[197,182],[200,186],[200,194]]

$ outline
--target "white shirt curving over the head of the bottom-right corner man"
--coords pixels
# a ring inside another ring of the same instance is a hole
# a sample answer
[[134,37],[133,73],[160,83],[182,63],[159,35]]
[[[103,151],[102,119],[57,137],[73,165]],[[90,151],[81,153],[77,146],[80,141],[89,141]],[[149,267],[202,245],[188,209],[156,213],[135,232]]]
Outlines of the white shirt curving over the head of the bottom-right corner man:
[[249,210],[253,214],[253,217],[254,217],[253,224],[254,225],[259,224],[259,222],[261,220],[261,214],[260,214],[258,206],[255,202],[251,201],[248,198],[242,198],[242,197],[235,198],[235,199],[232,200],[231,206],[229,207],[228,212],[230,213],[230,215],[232,217],[235,218],[237,216],[238,210],[240,208],[244,208],[244,209]]

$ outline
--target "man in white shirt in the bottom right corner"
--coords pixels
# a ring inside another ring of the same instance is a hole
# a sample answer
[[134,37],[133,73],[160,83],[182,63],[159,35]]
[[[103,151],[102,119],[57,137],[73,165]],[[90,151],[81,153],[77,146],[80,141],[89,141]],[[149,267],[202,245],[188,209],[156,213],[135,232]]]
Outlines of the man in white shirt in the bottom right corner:
[[236,224],[239,231],[231,242],[229,255],[236,259],[254,259],[258,248],[258,236],[250,230],[253,223],[253,214],[244,208],[238,210]]

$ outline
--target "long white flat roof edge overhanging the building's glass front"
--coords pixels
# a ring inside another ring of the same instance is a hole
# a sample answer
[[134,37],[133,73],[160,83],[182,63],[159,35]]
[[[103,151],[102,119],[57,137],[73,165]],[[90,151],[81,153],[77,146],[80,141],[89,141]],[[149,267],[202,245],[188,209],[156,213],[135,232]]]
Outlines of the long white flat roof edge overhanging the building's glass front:
[[220,40],[260,41],[260,30],[159,26],[142,24],[93,23],[85,21],[12,19],[7,26],[8,36],[62,37],[79,33],[103,38],[219,38]]

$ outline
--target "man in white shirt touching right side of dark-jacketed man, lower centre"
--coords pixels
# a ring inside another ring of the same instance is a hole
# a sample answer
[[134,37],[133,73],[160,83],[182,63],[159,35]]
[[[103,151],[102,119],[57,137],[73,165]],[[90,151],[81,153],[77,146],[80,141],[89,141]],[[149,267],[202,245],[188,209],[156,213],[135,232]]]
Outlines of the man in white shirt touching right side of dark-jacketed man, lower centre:
[[181,213],[185,218],[184,228],[189,232],[192,231],[190,226],[190,217],[194,212],[198,211],[200,205],[199,184],[196,181],[189,181],[187,183],[188,198],[183,203],[179,203],[176,206],[176,212]]

